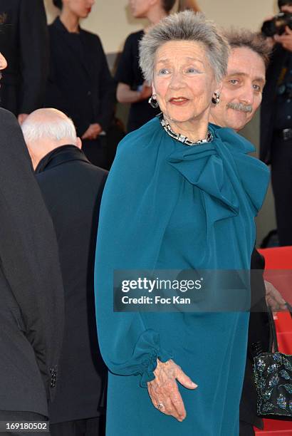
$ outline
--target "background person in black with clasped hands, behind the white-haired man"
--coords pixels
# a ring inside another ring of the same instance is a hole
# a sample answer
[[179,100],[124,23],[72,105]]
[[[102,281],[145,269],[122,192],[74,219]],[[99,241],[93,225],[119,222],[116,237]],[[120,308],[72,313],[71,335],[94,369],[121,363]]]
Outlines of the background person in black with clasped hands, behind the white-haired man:
[[100,38],[79,26],[94,0],[54,0],[61,15],[48,26],[50,73],[45,107],[68,115],[90,162],[108,167],[106,134],[113,123],[115,83]]

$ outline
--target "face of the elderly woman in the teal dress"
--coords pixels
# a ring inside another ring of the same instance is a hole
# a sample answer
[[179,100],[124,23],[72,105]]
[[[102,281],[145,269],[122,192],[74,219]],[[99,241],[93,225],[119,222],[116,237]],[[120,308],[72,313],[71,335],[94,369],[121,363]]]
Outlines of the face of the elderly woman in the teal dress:
[[209,118],[219,89],[206,49],[195,41],[169,41],[158,48],[152,86],[165,118],[177,123]]

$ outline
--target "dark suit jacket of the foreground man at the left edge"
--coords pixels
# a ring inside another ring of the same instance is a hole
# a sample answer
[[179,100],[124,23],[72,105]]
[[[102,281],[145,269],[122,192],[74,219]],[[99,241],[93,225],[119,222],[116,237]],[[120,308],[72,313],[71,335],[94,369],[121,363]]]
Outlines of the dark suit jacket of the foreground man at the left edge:
[[0,410],[48,416],[63,335],[53,224],[16,118],[0,109]]

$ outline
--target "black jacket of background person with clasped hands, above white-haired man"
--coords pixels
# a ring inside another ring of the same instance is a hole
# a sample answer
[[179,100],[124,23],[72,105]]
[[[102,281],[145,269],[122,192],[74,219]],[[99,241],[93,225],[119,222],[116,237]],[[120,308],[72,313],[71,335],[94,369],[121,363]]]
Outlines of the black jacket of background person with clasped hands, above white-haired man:
[[97,35],[80,28],[69,33],[60,19],[48,26],[50,73],[46,107],[62,110],[82,136],[92,123],[108,130],[113,120],[115,84]]

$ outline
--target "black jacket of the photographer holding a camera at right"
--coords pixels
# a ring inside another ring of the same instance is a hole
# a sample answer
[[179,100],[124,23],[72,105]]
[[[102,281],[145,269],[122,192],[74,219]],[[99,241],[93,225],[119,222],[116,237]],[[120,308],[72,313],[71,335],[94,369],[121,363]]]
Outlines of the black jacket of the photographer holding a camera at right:
[[266,164],[271,163],[271,145],[273,141],[273,128],[276,109],[277,82],[290,52],[281,44],[276,47],[271,56],[271,63],[266,71],[266,85],[264,87],[263,100],[261,102],[261,139],[260,159]]

